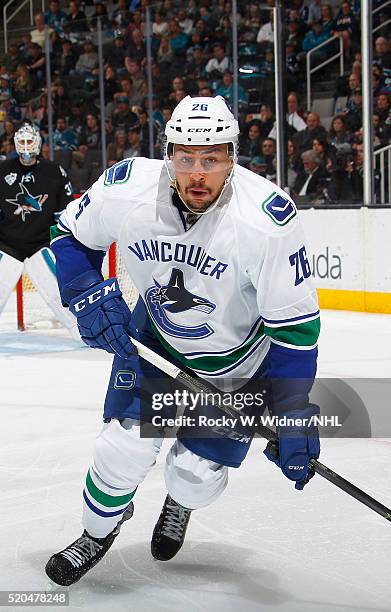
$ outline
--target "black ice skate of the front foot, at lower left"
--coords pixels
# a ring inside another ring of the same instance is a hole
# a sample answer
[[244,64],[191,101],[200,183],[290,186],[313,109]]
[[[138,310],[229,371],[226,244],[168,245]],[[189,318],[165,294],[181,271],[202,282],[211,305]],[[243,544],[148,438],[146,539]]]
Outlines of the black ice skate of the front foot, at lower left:
[[45,571],[53,582],[61,586],[70,586],[80,580],[107,553],[120,532],[121,525],[133,515],[133,503],[130,502],[118,525],[105,538],[93,538],[83,531],[80,538],[50,557]]

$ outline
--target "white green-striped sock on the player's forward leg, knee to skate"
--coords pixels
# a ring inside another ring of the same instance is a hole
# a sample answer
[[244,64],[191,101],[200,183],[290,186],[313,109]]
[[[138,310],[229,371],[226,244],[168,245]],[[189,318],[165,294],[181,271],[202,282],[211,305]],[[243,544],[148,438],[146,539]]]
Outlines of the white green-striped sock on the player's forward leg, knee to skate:
[[162,438],[140,438],[140,424],[113,419],[97,437],[83,492],[83,526],[106,537],[122,518],[137,486],[155,464]]

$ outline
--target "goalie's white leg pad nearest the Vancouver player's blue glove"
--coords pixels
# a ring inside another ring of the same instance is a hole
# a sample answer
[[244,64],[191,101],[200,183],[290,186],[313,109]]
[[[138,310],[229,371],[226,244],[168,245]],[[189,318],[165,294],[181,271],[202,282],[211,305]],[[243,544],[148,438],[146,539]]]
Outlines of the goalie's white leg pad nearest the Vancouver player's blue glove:
[[[43,248],[26,259],[26,272],[43,300],[49,306],[54,316],[77,338],[77,322],[75,317],[61,304],[57,285],[56,262],[52,251]],[[76,331],[75,331],[76,330]]]

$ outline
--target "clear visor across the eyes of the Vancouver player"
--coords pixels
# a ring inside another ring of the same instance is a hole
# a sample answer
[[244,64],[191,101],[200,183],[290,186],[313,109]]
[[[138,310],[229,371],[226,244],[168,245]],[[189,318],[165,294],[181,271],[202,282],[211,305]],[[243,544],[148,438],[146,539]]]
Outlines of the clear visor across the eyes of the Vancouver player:
[[228,155],[227,150],[216,149],[209,151],[191,151],[177,149],[169,156],[170,165],[173,166],[175,174],[227,174],[233,162],[233,157]]

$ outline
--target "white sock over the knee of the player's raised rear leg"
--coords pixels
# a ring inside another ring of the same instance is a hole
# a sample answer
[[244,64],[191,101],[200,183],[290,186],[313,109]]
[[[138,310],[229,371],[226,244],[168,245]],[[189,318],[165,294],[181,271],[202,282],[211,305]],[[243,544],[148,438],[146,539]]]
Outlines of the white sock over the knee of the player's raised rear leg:
[[170,496],[181,506],[196,510],[223,493],[228,467],[196,455],[177,440],[167,455],[164,477]]

